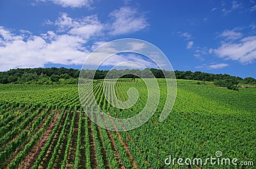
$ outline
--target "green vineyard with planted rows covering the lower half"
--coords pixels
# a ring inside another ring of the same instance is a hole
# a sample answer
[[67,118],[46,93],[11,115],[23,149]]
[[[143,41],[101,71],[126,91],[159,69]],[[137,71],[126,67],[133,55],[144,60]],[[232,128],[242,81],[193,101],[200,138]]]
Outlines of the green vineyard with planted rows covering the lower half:
[[[88,115],[95,115],[97,105],[112,117],[138,114],[148,96],[143,80],[124,78],[116,85],[106,82],[106,91],[115,89],[120,101],[128,99],[129,88],[138,90],[138,101],[127,109],[109,105],[101,80],[93,82],[93,91],[84,88],[84,109],[77,85],[0,85],[0,168],[255,167],[168,166],[164,160],[170,155],[206,159],[221,151],[223,158],[256,163],[256,88],[230,91],[178,80],[172,112],[159,122],[166,83],[162,79],[157,82],[161,97],[156,113],[131,131],[100,128]],[[97,121],[97,117],[93,119]]]

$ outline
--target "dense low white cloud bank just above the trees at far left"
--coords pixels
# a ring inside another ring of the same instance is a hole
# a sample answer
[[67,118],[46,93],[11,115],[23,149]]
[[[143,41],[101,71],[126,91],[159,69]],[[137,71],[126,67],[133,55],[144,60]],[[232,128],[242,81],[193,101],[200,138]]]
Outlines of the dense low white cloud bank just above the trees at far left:
[[0,71],[42,67],[47,63],[83,64],[89,54],[83,47],[85,41],[79,36],[51,31],[44,36],[27,36],[0,27]]

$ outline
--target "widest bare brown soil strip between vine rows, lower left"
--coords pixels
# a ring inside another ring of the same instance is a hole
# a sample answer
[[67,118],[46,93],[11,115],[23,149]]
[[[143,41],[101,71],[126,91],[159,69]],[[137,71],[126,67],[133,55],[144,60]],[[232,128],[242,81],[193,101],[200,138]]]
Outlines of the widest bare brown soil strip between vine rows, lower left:
[[[44,132],[44,135],[42,135],[42,137],[40,138],[40,140],[38,140],[38,142],[36,143],[36,145],[33,147],[33,149],[31,150],[31,152],[28,154],[28,156],[26,156],[26,158],[24,159],[24,161],[22,161],[22,163],[19,165],[19,168],[23,169],[23,168],[31,168],[33,166],[33,164],[35,163],[36,159],[38,158],[38,155],[40,154],[40,152],[42,151],[45,143],[47,142],[49,136],[52,133],[52,129],[54,128],[54,125],[56,124],[56,122],[58,121],[59,117],[60,117],[61,112],[58,111],[56,113],[56,115],[54,115],[54,119],[51,122],[51,124],[49,125],[49,128],[47,129],[47,131]],[[49,113],[49,115],[51,115],[51,113]],[[49,115],[47,116],[47,118],[49,117]],[[46,119],[47,119],[46,118]]]

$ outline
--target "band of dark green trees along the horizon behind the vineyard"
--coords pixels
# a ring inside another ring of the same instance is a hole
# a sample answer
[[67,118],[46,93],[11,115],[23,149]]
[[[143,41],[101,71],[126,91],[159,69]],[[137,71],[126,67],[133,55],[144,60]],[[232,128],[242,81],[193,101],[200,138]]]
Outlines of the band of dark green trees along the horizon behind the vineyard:
[[[149,69],[154,77],[164,78],[164,74],[168,78],[172,78],[171,71]],[[93,73],[95,75],[93,77]],[[164,72],[164,73],[163,73]],[[201,80],[214,82],[219,86],[226,86],[225,84],[256,84],[255,78],[252,77],[234,77],[227,74],[212,74],[201,71],[174,71],[177,79]],[[81,76],[84,78],[103,79],[108,73],[108,78],[151,78],[148,70],[82,70]],[[135,74],[132,75],[132,74]],[[13,69],[9,71],[0,72],[1,84],[77,84],[80,70],[67,68],[26,68]]]

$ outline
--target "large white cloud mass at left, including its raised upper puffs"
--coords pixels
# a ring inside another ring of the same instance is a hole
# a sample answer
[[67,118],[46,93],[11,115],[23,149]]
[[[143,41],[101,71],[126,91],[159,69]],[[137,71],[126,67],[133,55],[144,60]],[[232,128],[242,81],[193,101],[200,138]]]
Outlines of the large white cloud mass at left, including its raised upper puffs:
[[96,15],[71,18],[63,13],[55,22],[46,24],[57,26],[58,31],[35,36],[26,30],[15,34],[0,27],[0,71],[42,67],[48,63],[83,64],[86,55],[90,54],[84,45],[102,34],[104,28]]

